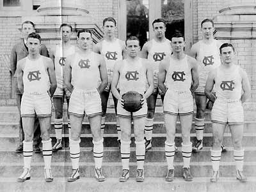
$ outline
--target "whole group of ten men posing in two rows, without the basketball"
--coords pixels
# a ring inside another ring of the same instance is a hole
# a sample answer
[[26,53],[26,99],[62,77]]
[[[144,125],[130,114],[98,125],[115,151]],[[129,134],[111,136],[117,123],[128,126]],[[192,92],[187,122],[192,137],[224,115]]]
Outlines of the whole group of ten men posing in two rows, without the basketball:
[[[23,142],[17,152],[23,151],[24,171],[17,179],[18,182],[30,179],[33,139],[34,151],[40,152],[40,135],[45,181],[53,181],[51,157],[52,151],[62,149],[64,97],[68,103],[72,161],[72,175],[67,181],[79,179],[79,143],[84,115],[88,117],[92,130],[95,177],[97,181],[105,181],[101,167],[110,92],[115,103],[116,129],[122,158],[120,182],[129,179],[131,122],[134,125],[136,144],[136,181],[144,181],[145,152],[152,148],[153,118],[158,94],[163,101],[166,127],[166,181],[174,179],[177,117],[182,133],[183,178],[185,181],[193,180],[189,170],[191,152],[198,152],[203,147],[207,100],[208,103],[214,103],[211,112],[213,174],[210,181],[216,182],[219,178],[221,151],[225,151],[222,141],[227,124],[234,145],[236,177],[241,182],[246,181],[241,144],[244,121],[242,103],[250,98],[250,83],[246,72],[236,64],[234,47],[230,43],[214,40],[214,22],[208,18],[201,23],[203,39],[191,47],[189,55],[184,53],[185,41],[181,33],[173,34],[170,40],[165,38],[166,25],[162,18],[154,20],[152,27],[154,38],[140,48],[140,40],[136,36],[127,38],[125,42],[116,38],[116,21],[108,17],[103,20],[102,41],[92,46],[92,33],[82,29],[77,32],[75,47],[70,44],[72,26],[61,24],[61,44],[51,47],[48,54],[45,45],[41,44],[40,35],[35,33],[33,22],[26,21],[22,24],[23,40],[13,47],[11,54],[12,74],[17,80],[17,104],[22,118],[20,141]],[[123,108],[122,95],[128,91],[137,91],[143,95],[142,107],[137,112],[128,112]],[[197,142],[192,147],[190,131],[194,111],[193,94],[196,101]],[[56,110],[56,144],[53,147],[49,134],[51,98]],[[40,128],[37,128],[38,124]]]

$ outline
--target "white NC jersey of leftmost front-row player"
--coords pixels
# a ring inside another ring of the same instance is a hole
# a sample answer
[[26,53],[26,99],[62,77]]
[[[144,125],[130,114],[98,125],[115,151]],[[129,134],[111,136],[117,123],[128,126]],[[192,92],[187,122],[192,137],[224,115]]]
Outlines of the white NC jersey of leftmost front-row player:
[[24,92],[47,92],[50,87],[49,75],[41,56],[35,61],[26,57],[23,71]]

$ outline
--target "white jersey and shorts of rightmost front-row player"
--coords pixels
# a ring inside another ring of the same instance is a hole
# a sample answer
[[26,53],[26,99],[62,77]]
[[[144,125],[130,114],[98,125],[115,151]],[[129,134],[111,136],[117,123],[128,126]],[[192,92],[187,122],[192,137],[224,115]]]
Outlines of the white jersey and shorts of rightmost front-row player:
[[228,124],[244,122],[244,112],[241,103],[242,77],[240,67],[232,66],[228,71],[219,67],[216,72],[215,89],[217,99],[211,113],[211,121]]

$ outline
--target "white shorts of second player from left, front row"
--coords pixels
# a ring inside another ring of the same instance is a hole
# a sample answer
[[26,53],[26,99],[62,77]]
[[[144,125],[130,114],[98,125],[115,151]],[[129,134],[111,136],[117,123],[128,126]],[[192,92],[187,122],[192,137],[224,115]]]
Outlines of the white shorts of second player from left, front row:
[[84,117],[84,114],[86,117],[102,115],[99,91],[74,89],[70,96],[68,114],[76,117]]

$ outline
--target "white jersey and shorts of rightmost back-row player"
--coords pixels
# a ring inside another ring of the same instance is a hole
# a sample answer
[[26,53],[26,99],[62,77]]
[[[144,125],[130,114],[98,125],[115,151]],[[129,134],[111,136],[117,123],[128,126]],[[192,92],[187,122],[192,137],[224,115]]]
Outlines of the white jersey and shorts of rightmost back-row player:
[[220,48],[218,47],[218,41],[213,40],[211,44],[205,44],[204,41],[199,41],[200,50],[196,56],[199,62],[198,75],[199,86],[195,91],[195,94],[204,95],[205,84],[209,73],[220,66]]

